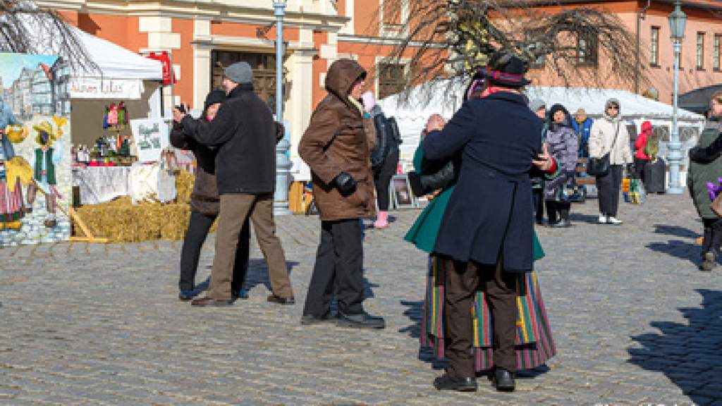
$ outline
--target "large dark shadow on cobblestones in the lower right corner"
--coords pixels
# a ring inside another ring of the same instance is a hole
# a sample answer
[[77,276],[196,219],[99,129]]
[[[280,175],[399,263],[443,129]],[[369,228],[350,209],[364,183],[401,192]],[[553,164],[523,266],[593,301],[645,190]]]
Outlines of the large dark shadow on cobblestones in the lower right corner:
[[722,394],[722,292],[697,289],[702,305],[679,308],[688,323],[653,321],[660,333],[632,337],[628,362],[664,373],[697,405],[709,405]]

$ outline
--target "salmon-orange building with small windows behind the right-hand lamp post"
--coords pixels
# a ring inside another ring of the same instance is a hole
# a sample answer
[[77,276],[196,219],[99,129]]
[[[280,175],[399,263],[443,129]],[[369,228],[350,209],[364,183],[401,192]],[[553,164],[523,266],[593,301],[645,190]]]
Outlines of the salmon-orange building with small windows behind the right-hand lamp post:
[[[604,61],[602,56],[599,56],[598,61],[594,58],[584,60],[584,57],[580,56],[579,69],[593,70],[599,77],[604,78],[604,87],[629,90],[657,98],[664,103],[672,103],[674,51],[669,38],[667,17],[674,9],[673,1],[560,2],[563,3],[562,7],[599,7],[606,12],[617,14],[634,38],[632,43],[626,44],[638,53],[638,73],[632,82],[622,82],[610,74],[606,70],[609,62]],[[549,9],[549,12],[553,11]],[[722,84],[722,4],[719,1],[684,0],[682,11],[687,14],[687,28],[682,40],[679,94]],[[593,40],[590,43],[593,43]],[[577,47],[580,48],[579,42]],[[594,54],[593,51],[588,52],[588,55]],[[563,85],[561,79],[555,77],[545,66],[532,68],[529,76],[534,85]]]

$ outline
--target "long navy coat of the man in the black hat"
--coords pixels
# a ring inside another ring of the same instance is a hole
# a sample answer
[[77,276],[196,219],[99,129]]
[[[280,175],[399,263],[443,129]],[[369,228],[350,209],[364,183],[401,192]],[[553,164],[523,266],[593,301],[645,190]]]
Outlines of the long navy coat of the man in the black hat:
[[532,262],[531,160],[541,152],[542,121],[521,95],[495,92],[461,106],[443,131],[424,141],[424,156],[461,150],[461,171],[434,251],[458,261],[529,272]]

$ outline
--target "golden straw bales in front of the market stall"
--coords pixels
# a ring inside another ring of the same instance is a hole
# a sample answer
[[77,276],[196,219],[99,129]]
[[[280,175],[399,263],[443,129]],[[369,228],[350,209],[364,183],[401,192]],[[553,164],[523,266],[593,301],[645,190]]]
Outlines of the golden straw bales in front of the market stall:
[[193,180],[194,176],[185,170],[176,173],[178,197],[175,203],[132,204],[130,196],[121,196],[113,202],[84,205],[77,212],[94,236],[105,237],[112,242],[182,240],[191,214],[188,202],[191,200]]

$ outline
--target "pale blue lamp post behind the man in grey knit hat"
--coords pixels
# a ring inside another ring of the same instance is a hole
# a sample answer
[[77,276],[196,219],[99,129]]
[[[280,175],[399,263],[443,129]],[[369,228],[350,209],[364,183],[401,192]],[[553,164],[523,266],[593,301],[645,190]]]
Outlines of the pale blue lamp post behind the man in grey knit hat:
[[[283,18],[286,14],[287,0],[273,0],[274,16],[276,16],[276,120],[283,122]],[[285,126],[284,126],[285,128]],[[289,215],[288,210],[288,175],[292,163],[287,152],[291,147],[286,137],[276,145],[276,191],[274,193],[274,215]]]

